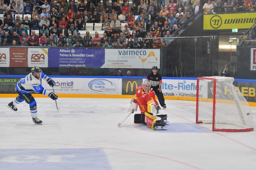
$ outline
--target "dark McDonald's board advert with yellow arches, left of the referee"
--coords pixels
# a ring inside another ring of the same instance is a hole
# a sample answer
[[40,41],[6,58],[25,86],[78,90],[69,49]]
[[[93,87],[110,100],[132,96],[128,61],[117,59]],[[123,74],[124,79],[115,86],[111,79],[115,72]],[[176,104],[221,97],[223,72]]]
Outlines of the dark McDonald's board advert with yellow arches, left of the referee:
[[122,79],[122,94],[134,95],[136,88],[141,86],[142,79]]

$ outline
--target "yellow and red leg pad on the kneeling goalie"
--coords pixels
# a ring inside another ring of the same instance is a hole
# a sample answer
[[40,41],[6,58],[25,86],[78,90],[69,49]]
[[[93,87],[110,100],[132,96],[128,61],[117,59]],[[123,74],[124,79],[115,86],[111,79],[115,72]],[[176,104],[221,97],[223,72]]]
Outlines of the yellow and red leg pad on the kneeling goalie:
[[152,130],[166,130],[167,128],[164,126],[164,122],[160,117],[153,116],[147,112],[145,112],[145,122]]

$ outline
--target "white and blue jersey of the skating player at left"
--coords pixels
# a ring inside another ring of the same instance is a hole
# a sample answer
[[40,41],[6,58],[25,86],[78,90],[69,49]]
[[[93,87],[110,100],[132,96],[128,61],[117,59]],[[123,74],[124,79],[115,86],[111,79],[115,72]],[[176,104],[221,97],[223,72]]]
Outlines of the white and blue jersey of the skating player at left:
[[29,73],[25,78],[20,79],[16,88],[20,93],[31,93],[36,91],[37,93],[41,93],[43,95],[49,95],[50,91],[47,91],[41,84],[41,79],[47,80],[49,77],[45,75],[45,73],[41,72],[41,76],[37,79],[33,76],[33,73]]

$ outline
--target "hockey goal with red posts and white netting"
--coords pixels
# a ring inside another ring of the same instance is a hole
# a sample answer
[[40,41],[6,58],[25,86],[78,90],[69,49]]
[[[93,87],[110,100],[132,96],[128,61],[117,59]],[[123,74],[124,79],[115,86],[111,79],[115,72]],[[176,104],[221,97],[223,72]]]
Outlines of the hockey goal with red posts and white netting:
[[197,78],[196,123],[212,123],[213,131],[254,130],[249,104],[233,82],[233,77]]

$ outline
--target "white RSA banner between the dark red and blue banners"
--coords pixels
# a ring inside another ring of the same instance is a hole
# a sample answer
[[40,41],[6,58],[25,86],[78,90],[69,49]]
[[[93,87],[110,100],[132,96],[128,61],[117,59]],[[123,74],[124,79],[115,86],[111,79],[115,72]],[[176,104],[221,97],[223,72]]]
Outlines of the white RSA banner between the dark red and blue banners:
[[28,48],[28,67],[48,67],[47,48]]

